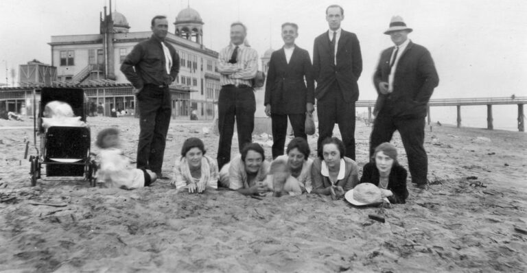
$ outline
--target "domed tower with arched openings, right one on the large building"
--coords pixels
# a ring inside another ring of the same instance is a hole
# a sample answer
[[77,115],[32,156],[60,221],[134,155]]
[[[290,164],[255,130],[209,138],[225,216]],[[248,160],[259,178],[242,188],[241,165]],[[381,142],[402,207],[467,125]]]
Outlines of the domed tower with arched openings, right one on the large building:
[[174,22],[176,26],[175,34],[203,45],[203,24],[200,14],[196,10],[187,7],[176,16],[176,22]]

